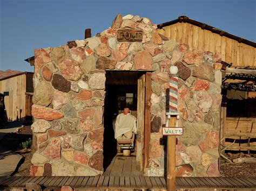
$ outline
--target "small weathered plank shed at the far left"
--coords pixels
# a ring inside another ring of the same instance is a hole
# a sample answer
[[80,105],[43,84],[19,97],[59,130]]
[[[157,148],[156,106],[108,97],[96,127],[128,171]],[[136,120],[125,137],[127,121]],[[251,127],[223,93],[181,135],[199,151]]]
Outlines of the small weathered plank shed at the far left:
[[0,79],[0,93],[4,94],[4,107],[8,121],[31,118],[33,73],[22,72]]

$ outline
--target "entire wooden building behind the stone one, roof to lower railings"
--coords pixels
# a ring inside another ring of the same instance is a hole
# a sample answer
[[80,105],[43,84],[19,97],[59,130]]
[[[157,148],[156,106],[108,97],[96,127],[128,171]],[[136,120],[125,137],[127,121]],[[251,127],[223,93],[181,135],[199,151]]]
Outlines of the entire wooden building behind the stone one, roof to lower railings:
[[[180,16],[157,32],[200,51],[220,52],[223,61],[221,151],[256,150],[256,43]],[[227,72],[228,69],[237,72]]]

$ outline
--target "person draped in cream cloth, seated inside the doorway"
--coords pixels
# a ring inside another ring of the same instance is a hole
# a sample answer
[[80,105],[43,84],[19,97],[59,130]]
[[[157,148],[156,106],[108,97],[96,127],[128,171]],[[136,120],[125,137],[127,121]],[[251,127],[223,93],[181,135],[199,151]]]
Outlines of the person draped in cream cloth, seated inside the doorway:
[[129,108],[124,108],[123,114],[117,116],[113,128],[116,139],[130,139],[133,133],[137,133],[136,117],[130,114]]

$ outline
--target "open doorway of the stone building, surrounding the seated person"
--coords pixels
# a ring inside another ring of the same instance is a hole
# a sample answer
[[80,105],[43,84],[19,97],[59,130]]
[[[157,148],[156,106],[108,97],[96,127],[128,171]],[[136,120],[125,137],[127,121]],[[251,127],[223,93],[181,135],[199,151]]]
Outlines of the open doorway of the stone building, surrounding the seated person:
[[[143,171],[144,116],[146,105],[145,76],[146,72],[142,71],[106,71],[103,142],[103,165],[105,175],[111,175],[111,173],[115,175],[120,173],[120,175],[132,175],[127,174],[127,171],[131,169],[133,173],[137,172],[136,175],[138,175]],[[123,112],[125,107],[129,107],[131,115],[137,118],[137,135],[134,151],[131,153],[131,157],[126,158],[118,149],[119,147],[117,146],[116,139],[114,139],[112,125],[113,120],[118,114]],[[130,167],[125,166],[126,162],[129,162]],[[115,165],[117,169],[114,169]]]

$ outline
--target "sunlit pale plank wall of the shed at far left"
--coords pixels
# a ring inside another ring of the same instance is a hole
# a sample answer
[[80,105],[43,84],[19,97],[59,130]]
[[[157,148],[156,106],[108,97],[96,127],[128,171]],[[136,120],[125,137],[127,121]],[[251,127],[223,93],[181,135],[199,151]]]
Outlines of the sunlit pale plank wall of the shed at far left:
[[[17,108],[21,109],[21,117],[25,117],[26,100],[26,74],[11,77],[1,81],[0,91],[9,91],[9,96],[4,97],[5,109],[8,120],[17,119]],[[18,118],[20,113],[18,112]]]

